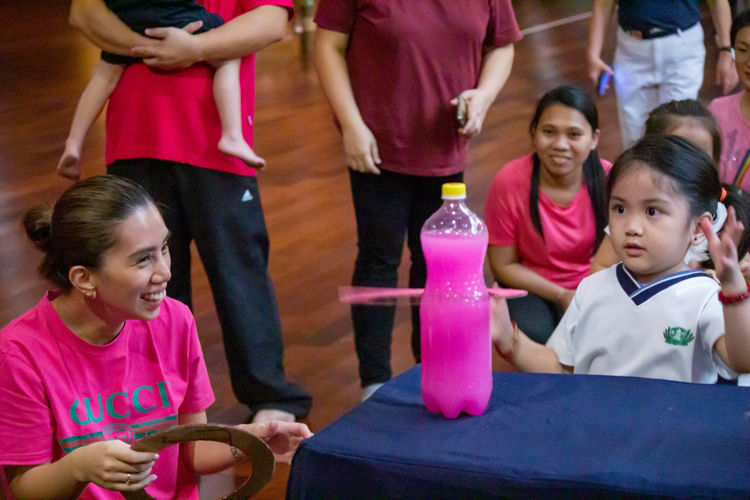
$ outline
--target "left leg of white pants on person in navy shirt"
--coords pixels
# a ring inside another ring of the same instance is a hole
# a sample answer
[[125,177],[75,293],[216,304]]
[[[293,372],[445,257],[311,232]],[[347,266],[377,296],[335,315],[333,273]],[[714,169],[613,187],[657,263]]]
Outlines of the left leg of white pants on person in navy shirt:
[[648,113],[659,105],[654,40],[638,40],[617,28],[614,81],[623,147],[643,135]]

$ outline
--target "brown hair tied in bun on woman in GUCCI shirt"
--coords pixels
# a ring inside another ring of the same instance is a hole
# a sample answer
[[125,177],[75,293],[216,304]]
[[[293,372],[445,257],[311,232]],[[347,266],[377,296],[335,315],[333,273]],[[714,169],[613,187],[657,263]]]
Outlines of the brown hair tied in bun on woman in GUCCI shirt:
[[23,218],[29,239],[44,252],[39,273],[64,291],[73,266],[100,269],[117,243],[117,229],[142,207],[155,206],[133,181],[102,175],[76,182],[53,205],[32,208]]

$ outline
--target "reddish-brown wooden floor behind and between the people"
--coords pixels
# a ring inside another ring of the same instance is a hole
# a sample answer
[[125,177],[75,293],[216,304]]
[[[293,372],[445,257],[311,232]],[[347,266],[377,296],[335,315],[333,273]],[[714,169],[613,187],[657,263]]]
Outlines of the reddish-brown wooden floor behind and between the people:
[[[0,327],[33,307],[47,288],[35,268],[41,255],[23,236],[20,219],[31,206],[53,201],[69,186],[55,166],[77,100],[99,53],[67,24],[64,0],[3,0],[0,18]],[[521,28],[582,14],[591,1],[517,0]],[[614,24],[613,24],[614,27]],[[706,39],[713,27],[705,23]],[[509,160],[530,152],[528,122],[547,90],[585,78],[588,19],[529,34],[516,45],[512,75],[472,143],[466,172],[468,204],[483,212],[489,183]],[[613,36],[605,46],[611,61]],[[707,82],[701,97],[716,95],[715,48],[709,43]],[[304,70],[299,40],[291,34],[259,54],[255,150],[268,160],[258,178],[271,236],[270,272],[276,284],[289,378],[313,395],[307,420],[313,431],[354,408],[360,396],[348,307],[337,287],[348,284],[356,255],[354,213],[341,141],[314,72]],[[620,152],[615,101],[599,101],[600,153]],[[104,124],[100,119],[84,150],[84,176],[102,174]],[[408,255],[405,255],[408,259]],[[405,269],[403,270],[405,271]],[[195,316],[216,403],[209,420],[240,423],[247,410],[234,398],[221,329],[200,262],[192,270]],[[489,279],[489,273],[486,273]],[[401,274],[402,283],[406,273]],[[397,314],[394,374],[410,368],[408,311]],[[495,368],[503,369],[499,359]],[[283,498],[288,467],[280,467],[258,498]],[[231,474],[204,478],[202,495],[232,488]],[[1,494],[1,493],[0,493]]]

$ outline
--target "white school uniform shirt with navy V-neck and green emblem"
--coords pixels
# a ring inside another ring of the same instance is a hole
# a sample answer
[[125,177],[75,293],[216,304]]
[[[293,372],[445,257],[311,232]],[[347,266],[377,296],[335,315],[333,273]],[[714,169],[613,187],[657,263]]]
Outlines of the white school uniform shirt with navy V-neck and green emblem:
[[641,285],[622,264],[585,278],[547,346],[574,373],[714,384],[737,378],[713,349],[720,286],[703,271]]

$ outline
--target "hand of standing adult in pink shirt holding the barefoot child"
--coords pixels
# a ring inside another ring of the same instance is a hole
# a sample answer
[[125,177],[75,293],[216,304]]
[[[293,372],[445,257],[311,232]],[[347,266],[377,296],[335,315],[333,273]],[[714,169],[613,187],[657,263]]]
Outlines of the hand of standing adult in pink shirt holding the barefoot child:
[[131,54],[140,57],[149,66],[161,69],[180,69],[201,61],[198,44],[192,34],[203,26],[203,21],[194,21],[184,28],[149,28],[146,35],[159,39],[157,45],[133,47]]

